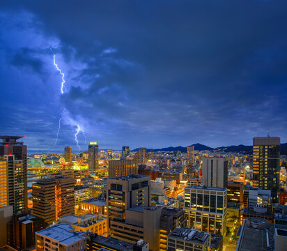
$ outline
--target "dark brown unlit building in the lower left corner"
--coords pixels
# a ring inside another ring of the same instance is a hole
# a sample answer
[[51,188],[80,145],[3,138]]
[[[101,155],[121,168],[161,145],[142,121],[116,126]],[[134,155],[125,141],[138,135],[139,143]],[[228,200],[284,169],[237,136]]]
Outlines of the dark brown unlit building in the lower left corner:
[[28,250],[35,245],[36,231],[45,227],[44,219],[28,213],[17,213],[7,224],[7,244],[15,250]]

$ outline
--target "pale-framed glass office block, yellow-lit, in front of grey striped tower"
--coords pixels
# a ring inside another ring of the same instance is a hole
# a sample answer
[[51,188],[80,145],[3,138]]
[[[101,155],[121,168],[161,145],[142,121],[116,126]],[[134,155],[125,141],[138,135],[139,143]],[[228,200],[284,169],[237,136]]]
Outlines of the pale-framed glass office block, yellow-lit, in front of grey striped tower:
[[189,185],[185,188],[187,227],[212,234],[226,232],[227,189]]

